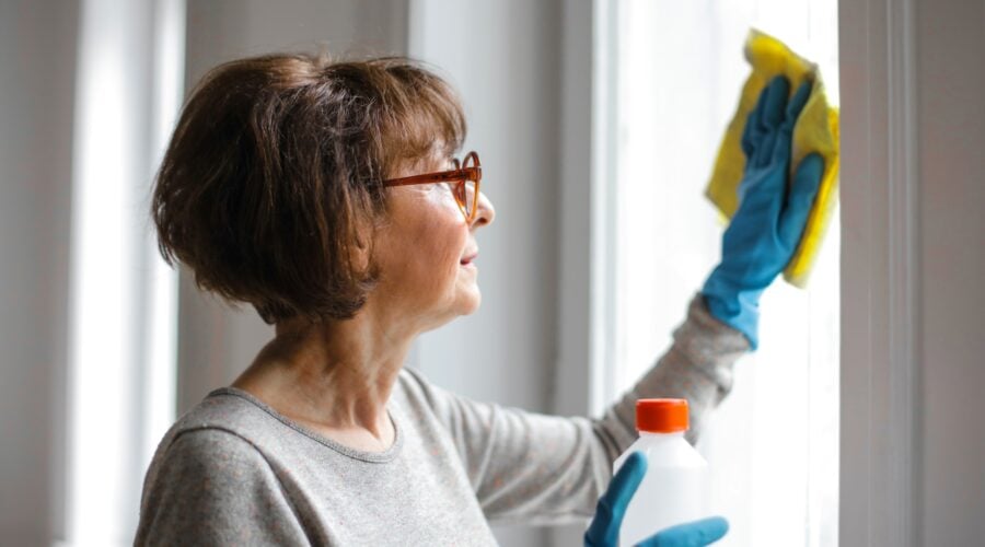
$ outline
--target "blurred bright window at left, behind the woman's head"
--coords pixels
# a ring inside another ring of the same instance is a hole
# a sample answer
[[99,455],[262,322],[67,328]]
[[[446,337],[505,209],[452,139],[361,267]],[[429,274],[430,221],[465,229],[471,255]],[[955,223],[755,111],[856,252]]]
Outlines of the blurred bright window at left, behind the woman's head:
[[[148,224],[178,113],[184,2],[82,2],[74,113],[65,500],[55,545],[128,545],[143,474],[174,421],[177,272]],[[146,13],[147,8],[153,11]],[[146,30],[152,30],[150,34]]]

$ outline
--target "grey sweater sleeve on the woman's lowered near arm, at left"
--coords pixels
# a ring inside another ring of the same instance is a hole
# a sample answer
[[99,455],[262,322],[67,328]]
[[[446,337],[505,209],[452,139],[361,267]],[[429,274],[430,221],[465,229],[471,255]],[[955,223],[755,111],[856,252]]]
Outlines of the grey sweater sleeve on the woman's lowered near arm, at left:
[[263,455],[219,429],[182,432],[148,473],[134,545],[310,545]]

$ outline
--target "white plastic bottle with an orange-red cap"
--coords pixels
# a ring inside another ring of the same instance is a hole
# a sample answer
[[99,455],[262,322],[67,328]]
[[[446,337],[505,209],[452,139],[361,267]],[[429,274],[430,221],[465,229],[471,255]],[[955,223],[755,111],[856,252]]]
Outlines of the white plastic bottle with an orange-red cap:
[[668,526],[709,516],[708,463],[684,439],[687,400],[636,401],[639,439],[616,461],[613,472],[634,452],[647,457],[647,474],[623,519],[619,545],[629,546]]

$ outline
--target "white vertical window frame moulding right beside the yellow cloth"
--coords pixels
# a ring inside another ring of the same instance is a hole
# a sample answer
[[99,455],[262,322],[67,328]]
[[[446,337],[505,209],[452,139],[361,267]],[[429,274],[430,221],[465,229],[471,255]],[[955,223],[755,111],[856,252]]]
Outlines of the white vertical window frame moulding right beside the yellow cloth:
[[913,0],[839,8],[842,545],[923,545]]

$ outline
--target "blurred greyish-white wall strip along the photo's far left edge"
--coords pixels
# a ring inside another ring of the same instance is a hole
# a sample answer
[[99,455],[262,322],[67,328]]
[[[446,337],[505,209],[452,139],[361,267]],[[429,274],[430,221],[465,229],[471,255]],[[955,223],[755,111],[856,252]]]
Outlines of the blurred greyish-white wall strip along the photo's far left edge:
[[78,8],[0,2],[0,543],[45,545],[60,505]]

